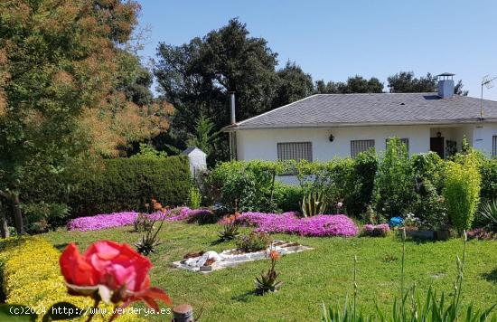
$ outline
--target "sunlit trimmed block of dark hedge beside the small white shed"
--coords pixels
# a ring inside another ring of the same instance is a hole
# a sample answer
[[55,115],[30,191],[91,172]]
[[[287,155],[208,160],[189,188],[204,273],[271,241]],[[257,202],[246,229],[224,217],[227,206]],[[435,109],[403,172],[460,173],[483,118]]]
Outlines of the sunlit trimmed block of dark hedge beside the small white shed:
[[150,199],[181,205],[188,201],[191,176],[186,156],[164,159],[117,158],[82,175],[70,194],[73,216],[145,211]]

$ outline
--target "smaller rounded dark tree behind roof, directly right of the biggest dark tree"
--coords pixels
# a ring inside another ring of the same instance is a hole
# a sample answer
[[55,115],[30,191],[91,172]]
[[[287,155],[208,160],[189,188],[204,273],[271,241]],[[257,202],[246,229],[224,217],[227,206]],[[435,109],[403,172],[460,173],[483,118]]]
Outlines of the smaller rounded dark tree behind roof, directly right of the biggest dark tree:
[[278,84],[273,107],[277,108],[298,99],[312,95],[314,91],[313,78],[302,71],[295,62],[286,62],[281,70],[277,71]]

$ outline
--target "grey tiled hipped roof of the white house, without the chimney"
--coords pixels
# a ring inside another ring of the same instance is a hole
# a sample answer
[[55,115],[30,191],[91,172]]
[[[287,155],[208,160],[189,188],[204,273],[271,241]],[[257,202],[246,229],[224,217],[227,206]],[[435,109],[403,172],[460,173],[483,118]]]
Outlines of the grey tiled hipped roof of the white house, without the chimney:
[[[465,96],[440,99],[436,93],[318,94],[227,129],[471,123],[478,118],[480,99]],[[483,100],[483,118],[497,120],[497,101]]]

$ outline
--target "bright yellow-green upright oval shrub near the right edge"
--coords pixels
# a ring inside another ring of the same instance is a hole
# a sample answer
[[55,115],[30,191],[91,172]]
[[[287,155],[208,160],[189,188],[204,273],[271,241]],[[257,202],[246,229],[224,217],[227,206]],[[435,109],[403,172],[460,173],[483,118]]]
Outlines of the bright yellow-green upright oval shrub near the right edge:
[[447,214],[458,232],[471,228],[480,201],[481,175],[473,153],[461,163],[448,161],[445,170],[444,197]]

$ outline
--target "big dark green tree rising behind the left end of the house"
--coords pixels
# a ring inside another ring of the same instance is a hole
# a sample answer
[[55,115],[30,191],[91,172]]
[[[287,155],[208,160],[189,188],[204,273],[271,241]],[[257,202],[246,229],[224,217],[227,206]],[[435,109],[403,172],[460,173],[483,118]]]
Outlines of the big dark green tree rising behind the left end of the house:
[[[238,19],[190,43],[173,46],[160,43],[155,76],[165,100],[175,112],[173,130],[165,144],[183,141],[195,133],[202,112],[215,122],[215,130],[229,124],[228,92],[236,92],[237,119],[271,109],[277,90],[277,53],[263,38],[250,37]],[[179,129],[182,128],[182,129]],[[224,146],[216,151],[226,158]]]

